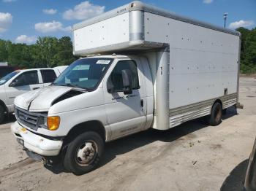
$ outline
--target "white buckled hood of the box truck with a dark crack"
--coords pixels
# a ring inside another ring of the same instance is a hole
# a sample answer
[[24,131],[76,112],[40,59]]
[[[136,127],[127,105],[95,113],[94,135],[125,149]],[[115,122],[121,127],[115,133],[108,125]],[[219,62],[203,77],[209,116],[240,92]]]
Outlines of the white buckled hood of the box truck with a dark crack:
[[67,86],[48,86],[24,93],[15,98],[15,106],[31,112],[47,112],[53,101],[72,90]]

